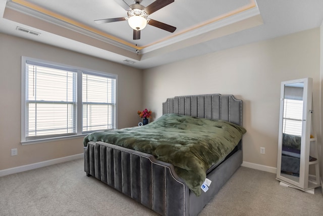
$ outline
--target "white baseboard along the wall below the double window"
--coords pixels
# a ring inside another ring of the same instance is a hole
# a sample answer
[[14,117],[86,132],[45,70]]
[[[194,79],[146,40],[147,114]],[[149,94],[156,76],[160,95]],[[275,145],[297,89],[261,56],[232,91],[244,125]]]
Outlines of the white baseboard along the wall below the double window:
[[56,159],[51,159],[51,160],[46,160],[46,161],[41,161],[39,163],[35,163],[35,164],[29,164],[29,165],[24,165],[24,166],[20,166],[20,167],[14,167],[14,168],[10,168],[10,169],[6,169],[6,170],[0,170],[0,177],[2,176],[7,176],[10,174],[14,174],[14,173],[20,173],[20,172],[24,172],[24,171],[28,171],[28,170],[33,170],[33,169],[37,169],[37,168],[41,168],[41,167],[46,167],[49,165],[54,165],[54,164],[59,164],[59,163],[63,163],[63,162],[67,162],[70,160],[75,160],[75,159],[79,159],[79,158],[83,158],[84,154],[74,154],[71,156],[66,156],[66,157],[60,157],[60,158],[56,158]]

